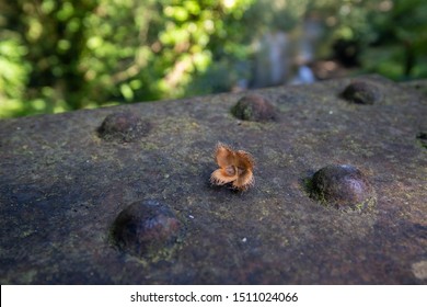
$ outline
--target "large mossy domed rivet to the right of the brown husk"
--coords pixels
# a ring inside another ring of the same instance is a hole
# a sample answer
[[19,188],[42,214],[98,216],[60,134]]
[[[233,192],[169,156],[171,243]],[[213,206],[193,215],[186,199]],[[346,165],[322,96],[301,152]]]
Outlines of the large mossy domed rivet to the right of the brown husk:
[[311,196],[338,209],[361,211],[372,207],[376,193],[367,177],[353,166],[327,166],[311,180]]

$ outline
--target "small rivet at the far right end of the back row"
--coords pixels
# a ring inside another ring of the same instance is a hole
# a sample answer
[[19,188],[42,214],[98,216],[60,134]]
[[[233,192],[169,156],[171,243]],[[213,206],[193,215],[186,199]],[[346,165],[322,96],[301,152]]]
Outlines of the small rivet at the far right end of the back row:
[[358,104],[374,104],[381,102],[382,93],[372,82],[356,80],[344,90],[343,98]]

